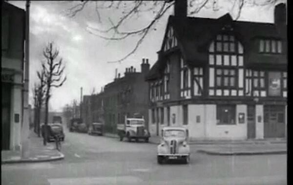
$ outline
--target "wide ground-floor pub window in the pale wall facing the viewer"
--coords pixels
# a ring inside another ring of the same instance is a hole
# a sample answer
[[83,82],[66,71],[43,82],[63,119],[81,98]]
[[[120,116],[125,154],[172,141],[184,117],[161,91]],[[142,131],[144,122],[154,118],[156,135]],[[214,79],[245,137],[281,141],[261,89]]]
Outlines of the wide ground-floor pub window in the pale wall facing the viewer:
[[235,125],[235,105],[217,105],[217,125]]

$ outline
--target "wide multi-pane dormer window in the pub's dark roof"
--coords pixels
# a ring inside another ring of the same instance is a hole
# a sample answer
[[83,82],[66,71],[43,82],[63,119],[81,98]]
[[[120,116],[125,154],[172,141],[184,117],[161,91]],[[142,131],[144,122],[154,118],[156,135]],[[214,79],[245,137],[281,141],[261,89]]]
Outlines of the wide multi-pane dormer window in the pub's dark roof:
[[259,53],[282,53],[282,41],[275,39],[259,40]]

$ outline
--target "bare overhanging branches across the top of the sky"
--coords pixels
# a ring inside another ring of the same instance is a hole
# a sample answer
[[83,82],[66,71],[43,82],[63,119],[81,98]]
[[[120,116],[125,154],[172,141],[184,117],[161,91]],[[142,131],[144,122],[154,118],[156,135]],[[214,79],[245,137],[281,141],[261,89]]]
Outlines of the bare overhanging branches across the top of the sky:
[[[220,2],[219,2],[220,1]],[[203,8],[212,9],[218,11],[225,6],[229,6],[230,12],[236,12],[234,19],[239,19],[241,10],[245,6],[269,6],[274,5],[282,0],[188,0],[189,15],[199,13]],[[101,37],[106,40],[119,41],[129,38],[130,36],[138,36],[138,39],[133,46],[133,49],[126,54],[126,56],[108,62],[121,62],[128,56],[135,53],[140,44],[146,38],[150,31],[156,30],[156,23],[166,14],[167,10],[173,6],[175,0],[81,0],[77,4],[72,5],[67,9],[66,14],[69,17],[75,17],[78,13],[84,10],[86,6],[94,7],[97,14],[97,22],[105,27],[107,24],[110,26],[101,30],[92,26],[87,26],[86,30],[93,35]],[[76,3],[76,2],[74,2]],[[223,4],[223,6],[220,6]],[[104,10],[115,11],[115,13],[121,13],[120,19],[114,21],[111,17],[103,16]],[[122,11],[121,11],[122,10]],[[123,30],[123,25],[131,23],[134,17],[139,17],[143,13],[149,13],[153,15],[153,19],[146,23],[146,26],[138,28],[136,30]],[[103,18],[107,18],[108,22],[102,21]]]

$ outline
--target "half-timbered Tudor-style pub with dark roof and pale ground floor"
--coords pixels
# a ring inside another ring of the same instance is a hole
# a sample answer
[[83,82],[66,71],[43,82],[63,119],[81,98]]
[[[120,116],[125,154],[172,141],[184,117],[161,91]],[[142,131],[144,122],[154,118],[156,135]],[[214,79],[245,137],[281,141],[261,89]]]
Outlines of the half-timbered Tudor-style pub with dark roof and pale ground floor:
[[274,23],[187,17],[176,0],[149,83],[149,131],[184,126],[191,139],[286,137],[286,5]]

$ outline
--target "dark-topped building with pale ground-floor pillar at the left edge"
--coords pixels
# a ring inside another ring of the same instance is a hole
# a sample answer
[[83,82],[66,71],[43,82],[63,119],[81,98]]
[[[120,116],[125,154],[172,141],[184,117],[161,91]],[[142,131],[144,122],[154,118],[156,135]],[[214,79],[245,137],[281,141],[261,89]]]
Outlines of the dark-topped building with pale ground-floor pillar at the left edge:
[[21,149],[25,11],[2,2],[1,55],[1,150]]

